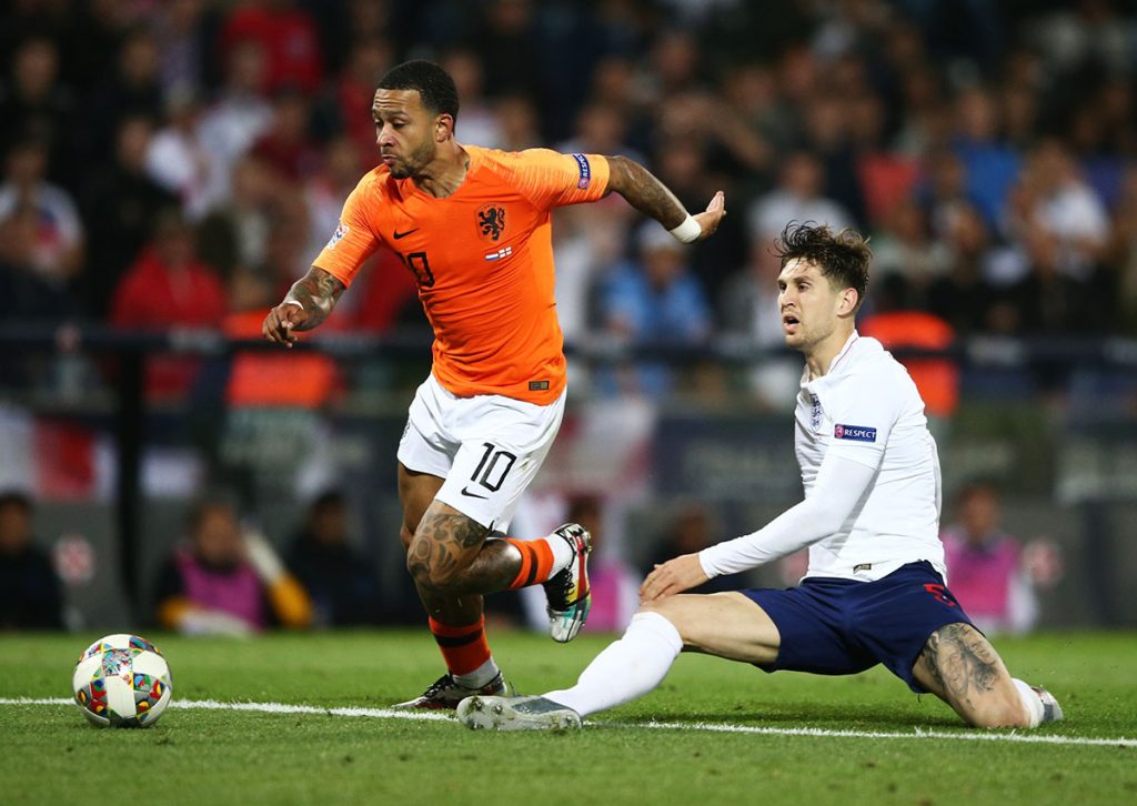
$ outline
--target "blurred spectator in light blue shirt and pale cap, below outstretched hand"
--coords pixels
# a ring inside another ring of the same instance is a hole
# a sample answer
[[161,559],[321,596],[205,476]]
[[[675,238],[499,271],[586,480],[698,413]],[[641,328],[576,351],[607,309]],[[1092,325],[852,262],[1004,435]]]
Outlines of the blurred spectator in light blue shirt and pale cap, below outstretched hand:
[[[601,317],[605,330],[631,344],[692,346],[712,327],[711,308],[703,289],[687,266],[687,255],[665,230],[654,223],[639,227],[638,259],[624,261],[605,282]],[[654,360],[636,364],[623,377],[599,380],[609,391],[622,389],[650,397],[666,394],[674,385],[670,367]]]

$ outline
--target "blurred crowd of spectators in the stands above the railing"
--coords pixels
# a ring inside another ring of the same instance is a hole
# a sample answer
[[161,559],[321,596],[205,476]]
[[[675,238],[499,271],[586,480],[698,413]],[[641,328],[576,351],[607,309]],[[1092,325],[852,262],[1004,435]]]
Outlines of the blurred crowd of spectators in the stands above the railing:
[[[5,321],[247,332],[374,166],[377,78],[425,57],[457,82],[459,141],[625,153],[694,210],[725,190],[695,248],[620,199],[562,215],[570,341],[777,342],[790,219],[870,232],[879,305],[954,335],[1137,332],[1124,0],[6,7]],[[331,326],[421,324],[410,274],[374,264]]]

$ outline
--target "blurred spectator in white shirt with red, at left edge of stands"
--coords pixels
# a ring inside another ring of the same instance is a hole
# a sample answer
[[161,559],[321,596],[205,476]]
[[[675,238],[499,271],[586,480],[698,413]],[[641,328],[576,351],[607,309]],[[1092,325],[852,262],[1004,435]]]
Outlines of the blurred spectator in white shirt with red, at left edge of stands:
[[8,150],[0,184],[0,221],[19,208],[35,211],[32,266],[44,283],[66,289],[83,269],[84,228],[69,192],[47,181],[48,148],[39,138]]

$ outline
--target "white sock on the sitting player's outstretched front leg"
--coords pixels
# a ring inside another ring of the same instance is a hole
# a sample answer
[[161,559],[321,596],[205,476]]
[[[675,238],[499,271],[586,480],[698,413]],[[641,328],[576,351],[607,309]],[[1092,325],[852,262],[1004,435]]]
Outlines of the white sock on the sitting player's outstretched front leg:
[[614,708],[662,683],[682,648],[674,624],[658,613],[637,613],[623,638],[597,655],[574,687],[545,697],[581,716]]

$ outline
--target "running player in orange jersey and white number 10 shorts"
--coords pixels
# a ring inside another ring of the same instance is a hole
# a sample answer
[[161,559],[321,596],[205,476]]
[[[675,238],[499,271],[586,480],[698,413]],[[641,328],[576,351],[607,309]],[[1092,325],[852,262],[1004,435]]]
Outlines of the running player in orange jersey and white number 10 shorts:
[[382,165],[348,197],[308,274],[268,311],[264,335],[290,347],[297,331],[319,325],[380,247],[414,273],[434,346],[399,443],[401,537],[447,674],[397,707],[455,708],[474,693],[512,691],[485,640],[483,593],[542,584],[558,641],[588,616],[584,529],[504,537],[564,413],[549,213],[615,191],[692,242],[717,228],[725,201],[719,192],[691,216],[625,157],[462,144],[454,81],[430,61],[383,76],[372,115]]

